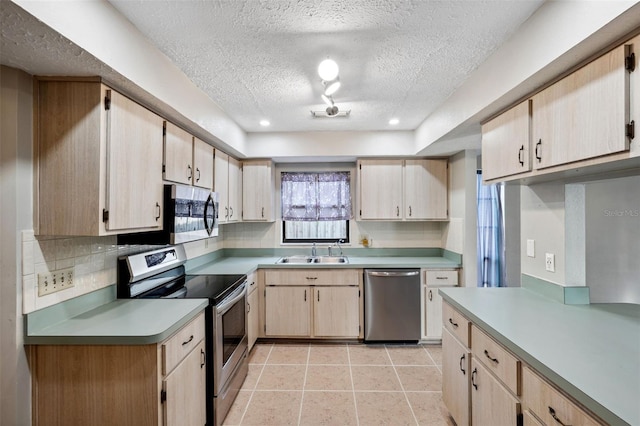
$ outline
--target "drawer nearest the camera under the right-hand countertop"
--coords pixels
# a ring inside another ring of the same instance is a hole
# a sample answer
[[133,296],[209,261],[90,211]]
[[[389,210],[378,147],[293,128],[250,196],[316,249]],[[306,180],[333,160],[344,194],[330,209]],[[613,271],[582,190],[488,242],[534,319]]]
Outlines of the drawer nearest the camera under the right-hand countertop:
[[522,403],[548,425],[600,424],[526,366],[522,369]]

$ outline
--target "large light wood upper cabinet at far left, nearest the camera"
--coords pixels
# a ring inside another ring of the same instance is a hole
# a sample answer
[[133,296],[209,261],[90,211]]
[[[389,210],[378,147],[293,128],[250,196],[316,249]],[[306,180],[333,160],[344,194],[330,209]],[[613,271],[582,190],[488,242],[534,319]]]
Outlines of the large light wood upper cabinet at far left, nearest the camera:
[[99,79],[38,79],[38,235],[162,229],[162,119]]

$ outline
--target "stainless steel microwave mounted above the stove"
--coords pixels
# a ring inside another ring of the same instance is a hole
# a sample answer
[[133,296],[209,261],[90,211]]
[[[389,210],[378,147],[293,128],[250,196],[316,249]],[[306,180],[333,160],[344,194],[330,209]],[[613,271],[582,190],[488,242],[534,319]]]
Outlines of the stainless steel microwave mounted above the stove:
[[218,236],[217,192],[194,186],[164,186],[163,230],[118,235],[118,244],[181,244]]

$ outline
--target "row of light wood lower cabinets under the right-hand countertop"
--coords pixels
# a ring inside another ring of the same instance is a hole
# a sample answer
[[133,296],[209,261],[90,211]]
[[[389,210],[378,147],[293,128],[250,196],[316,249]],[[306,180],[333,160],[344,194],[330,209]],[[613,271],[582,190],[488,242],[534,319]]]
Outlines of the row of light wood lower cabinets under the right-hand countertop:
[[442,324],[442,399],[458,426],[605,424],[446,302]]

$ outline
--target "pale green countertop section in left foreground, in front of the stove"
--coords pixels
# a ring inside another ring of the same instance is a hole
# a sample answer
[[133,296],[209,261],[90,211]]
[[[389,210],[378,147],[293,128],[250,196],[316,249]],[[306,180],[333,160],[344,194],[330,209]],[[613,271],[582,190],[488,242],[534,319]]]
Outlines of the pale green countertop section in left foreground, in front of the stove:
[[27,324],[27,345],[144,345],[165,340],[207,299],[118,299],[50,324]]

